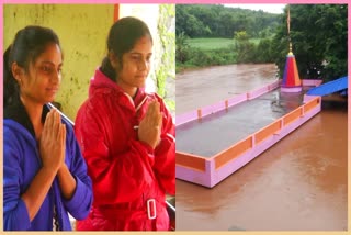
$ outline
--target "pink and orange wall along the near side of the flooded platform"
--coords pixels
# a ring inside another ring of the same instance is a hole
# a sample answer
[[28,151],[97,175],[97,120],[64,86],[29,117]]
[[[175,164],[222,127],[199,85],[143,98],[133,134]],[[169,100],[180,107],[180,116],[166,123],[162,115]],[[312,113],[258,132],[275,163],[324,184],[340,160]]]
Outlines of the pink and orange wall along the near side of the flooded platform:
[[177,152],[177,178],[214,187],[317,114],[320,102],[320,97],[305,96],[303,105],[210,158]]

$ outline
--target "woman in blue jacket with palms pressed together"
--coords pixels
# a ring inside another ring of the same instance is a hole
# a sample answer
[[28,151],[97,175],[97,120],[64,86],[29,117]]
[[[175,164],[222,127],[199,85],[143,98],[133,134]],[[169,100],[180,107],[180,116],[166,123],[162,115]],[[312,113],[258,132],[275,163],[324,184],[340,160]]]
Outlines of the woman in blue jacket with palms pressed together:
[[57,35],[41,26],[19,31],[3,55],[4,231],[71,230],[84,219],[91,180],[72,126],[47,103],[61,81]]

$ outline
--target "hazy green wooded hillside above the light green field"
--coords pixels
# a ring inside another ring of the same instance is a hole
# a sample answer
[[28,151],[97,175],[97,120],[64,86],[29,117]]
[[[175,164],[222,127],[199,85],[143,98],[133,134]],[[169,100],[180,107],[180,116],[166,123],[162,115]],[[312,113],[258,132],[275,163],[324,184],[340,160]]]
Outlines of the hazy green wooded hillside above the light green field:
[[220,4],[177,4],[176,18],[176,34],[184,32],[190,37],[231,38],[237,31],[258,37],[272,34],[279,25],[278,14]]

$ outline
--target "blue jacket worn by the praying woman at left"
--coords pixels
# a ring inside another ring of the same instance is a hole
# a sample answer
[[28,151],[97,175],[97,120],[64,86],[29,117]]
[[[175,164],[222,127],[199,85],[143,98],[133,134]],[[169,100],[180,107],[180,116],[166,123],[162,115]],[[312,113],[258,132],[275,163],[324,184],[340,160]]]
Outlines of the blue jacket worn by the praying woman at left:
[[[15,111],[15,112],[14,112]],[[44,105],[43,118],[48,112]],[[9,114],[10,113],[10,114]],[[92,204],[91,179],[75,138],[72,126],[66,124],[65,163],[77,182],[70,200],[60,194],[56,177],[36,216],[30,221],[26,206],[21,195],[26,191],[42,167],[38,143],[34,130],[22,103],[11,112],[4,113],[3,120],[3,230],[4,231],[52,231],[54,205],[56,206],[59,230],[71,230],[68,213],[77,220],[84,219]]]

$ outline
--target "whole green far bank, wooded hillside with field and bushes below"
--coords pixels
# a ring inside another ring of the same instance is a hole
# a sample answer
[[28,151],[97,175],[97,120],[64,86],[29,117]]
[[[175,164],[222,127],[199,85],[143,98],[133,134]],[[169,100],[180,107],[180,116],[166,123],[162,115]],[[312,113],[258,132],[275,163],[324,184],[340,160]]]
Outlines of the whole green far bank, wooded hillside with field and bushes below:
[[279,25],[276,14],[220,4],[177,4],[176,18],[177,72],[193,67],[272,61],[268,44]]

